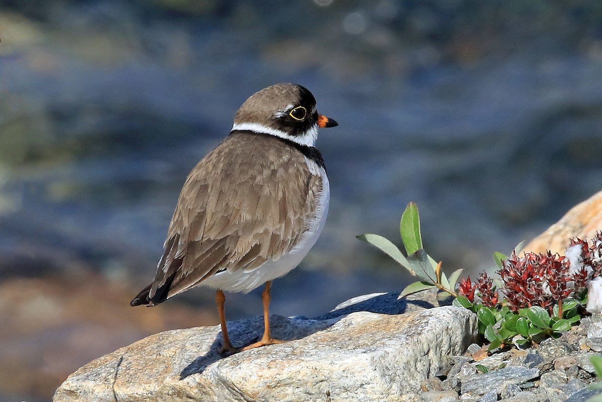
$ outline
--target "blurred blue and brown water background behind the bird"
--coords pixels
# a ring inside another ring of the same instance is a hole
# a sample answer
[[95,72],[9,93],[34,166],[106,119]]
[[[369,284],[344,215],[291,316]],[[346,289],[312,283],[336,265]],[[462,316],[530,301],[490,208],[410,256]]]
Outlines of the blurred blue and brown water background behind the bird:
[[[216,324],[213,291],[153,309],[185,176],[267,85],[297,82],[320,132],[330,212],[272,312],[317,315],[409,278],[355,236],[492,268],[600,190],[599,0],[0,0],[0,401],[160,330]],[[229,319],[261,313],[232,294]]]

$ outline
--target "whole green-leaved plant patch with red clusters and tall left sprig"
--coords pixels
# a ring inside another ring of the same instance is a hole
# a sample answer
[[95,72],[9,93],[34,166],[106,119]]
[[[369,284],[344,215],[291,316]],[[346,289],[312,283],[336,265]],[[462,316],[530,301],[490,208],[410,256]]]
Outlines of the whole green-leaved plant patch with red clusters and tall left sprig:
[[[403,289],[399,298],[436,288],[455,297],[454,305],[477,315],[479,333],[489,342],[488,350],[510,344],[517,347],[553,337],[571,329],[584,311],[587,282],[602,274],[602,232],[591,245],[580,239],[571,240],[566,257],[547,253],[523,253],[517,249],[510,257],[494,253],[500,280],[487,273],[476,282],[470,276],[456,283],[462,269],[449,277],[423,249],[418,207],[411,202],[403,212],[399,225],[408,257],[393,242],[373,233],[358,236],[397,261],[418,281]],[[602,307],[600,307],[602,308]],[[602,400],[600,401],[602,402]]]

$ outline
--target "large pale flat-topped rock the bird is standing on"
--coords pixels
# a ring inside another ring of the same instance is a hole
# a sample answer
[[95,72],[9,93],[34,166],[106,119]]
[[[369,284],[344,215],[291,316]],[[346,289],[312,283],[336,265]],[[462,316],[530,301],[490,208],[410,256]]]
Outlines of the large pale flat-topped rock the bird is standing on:
[[[271,320],[273,335],[290,342],[221,357],[219,326],[158,333],[83,366],[54,402],[300,402],[323,400],[326,392],[332,400],[399,400],[476,335],[474,314],[452,306]],[[261,335],[262,318],[229,323],[229,330],[235,344],[250,342]]]

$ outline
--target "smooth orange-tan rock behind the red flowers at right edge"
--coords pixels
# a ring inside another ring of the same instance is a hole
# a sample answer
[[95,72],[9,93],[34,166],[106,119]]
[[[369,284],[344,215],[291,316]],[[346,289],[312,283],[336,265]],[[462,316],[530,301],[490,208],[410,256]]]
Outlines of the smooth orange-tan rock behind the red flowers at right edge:
[[550,226],[545,232],[524,247],[526,252],[564,255],[569,239],[579,237],[589,240],[602,227],[602,191],[577,204]]

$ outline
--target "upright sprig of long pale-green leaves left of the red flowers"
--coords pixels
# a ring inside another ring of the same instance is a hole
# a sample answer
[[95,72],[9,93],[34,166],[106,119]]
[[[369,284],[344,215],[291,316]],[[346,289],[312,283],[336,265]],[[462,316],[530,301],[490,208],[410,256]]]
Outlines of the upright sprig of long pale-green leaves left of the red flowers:
[[436,262],[423,249],[420,234],[420,216],[418,206],[411,202],[403,211],[399,224],[399,233],[408,257],[406,258],[397,246],[390,240],[374,233],[359,235],[359,240],[365,241],[376,247],[389,257],[397,261],[403,268],[408,270],[412,276],[418,278],[417,282],[411,283],[403,289],[399,298],[420,292],[426,289],[437,288],[457,297],[456,283],[462,269],[454,271],[449,277],[441,270],[441,262]]

